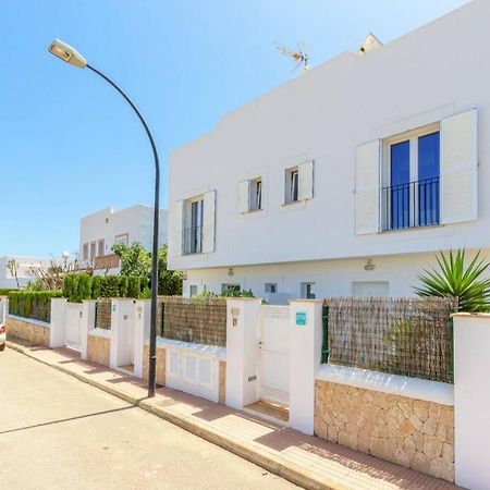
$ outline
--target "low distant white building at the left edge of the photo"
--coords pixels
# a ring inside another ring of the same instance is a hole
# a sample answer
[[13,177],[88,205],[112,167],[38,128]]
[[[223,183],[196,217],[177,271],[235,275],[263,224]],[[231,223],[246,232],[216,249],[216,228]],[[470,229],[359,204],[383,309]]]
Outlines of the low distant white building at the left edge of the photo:
[[[46,257],[0,257],[0,290],[16,290],[35,281],[35,270],[47,270],[52,260]],[[16,278],[15,278],[16,275]]]

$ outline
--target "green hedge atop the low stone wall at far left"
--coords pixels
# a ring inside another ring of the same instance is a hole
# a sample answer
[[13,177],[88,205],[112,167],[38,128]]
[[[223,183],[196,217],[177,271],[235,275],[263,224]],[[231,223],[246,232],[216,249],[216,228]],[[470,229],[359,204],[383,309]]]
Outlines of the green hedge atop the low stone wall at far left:
[[61,296],[61,291],[11,291],[9,293],[9,314],[49,323],[51,321],[51,298]]

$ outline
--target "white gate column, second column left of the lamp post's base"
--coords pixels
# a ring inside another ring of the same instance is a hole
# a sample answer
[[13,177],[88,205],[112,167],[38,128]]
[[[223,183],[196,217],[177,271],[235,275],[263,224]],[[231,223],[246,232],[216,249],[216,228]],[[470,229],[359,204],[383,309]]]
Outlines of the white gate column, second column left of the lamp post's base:
[[109,367],[115,369],[132,363],[134,299],[112,298],[111,351]]

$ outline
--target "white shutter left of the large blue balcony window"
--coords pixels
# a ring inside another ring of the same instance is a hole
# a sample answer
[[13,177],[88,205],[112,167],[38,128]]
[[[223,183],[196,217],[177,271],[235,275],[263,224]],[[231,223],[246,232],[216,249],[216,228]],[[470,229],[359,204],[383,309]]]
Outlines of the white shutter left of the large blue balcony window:
[[379,232],[380,142],[356,148],[356,234]]

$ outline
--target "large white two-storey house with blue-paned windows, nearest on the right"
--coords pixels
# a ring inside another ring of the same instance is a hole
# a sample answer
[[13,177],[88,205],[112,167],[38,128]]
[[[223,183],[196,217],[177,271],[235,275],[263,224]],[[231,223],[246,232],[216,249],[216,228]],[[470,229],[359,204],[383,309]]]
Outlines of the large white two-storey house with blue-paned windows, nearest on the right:
[[439,249],[490,252],[490,2],[344,52],[171,155],[184,294],[413,295]]

